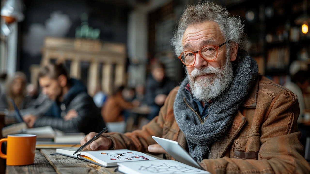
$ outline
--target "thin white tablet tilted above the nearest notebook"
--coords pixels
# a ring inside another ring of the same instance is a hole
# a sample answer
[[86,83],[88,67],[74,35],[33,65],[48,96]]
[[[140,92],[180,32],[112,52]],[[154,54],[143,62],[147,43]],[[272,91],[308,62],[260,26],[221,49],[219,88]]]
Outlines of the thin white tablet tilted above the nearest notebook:
[[195,159],[191,157],[190,154],[188,154],[188,152],[185,149],[183,149],[182,146],[179,145],[178,142],[155,136],[152,136],[152,138],[160,146],[162,146],[162,148],[164,148],[166,152],[168,152],[168,154],[170,154],[175,160],[187,164],[189,166],[205,170],[199,165],[199,163],[197,163]]

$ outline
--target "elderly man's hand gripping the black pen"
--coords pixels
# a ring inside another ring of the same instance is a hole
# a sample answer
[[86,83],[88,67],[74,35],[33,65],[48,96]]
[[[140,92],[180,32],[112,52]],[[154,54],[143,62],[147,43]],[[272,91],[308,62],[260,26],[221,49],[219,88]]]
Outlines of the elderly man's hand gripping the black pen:
[[[91,138],[95,137],[98,133],[91,132],[81,140],[81,145],[85,144]],[[91,142],[86,148],[87,150],[109,150],[113,146],[113,141],[110,138],[100,136],[97,140]]]

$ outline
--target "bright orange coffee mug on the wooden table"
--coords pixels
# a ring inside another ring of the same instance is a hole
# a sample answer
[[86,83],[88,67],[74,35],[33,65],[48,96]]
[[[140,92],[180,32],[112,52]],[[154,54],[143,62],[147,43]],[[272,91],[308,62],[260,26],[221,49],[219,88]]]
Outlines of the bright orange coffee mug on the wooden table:
[[2,138],[0,140],[0,149],[2,143],[7,141],[7,154],[3,154],[0,150],[0,157],[7,159],[7,165],[10,166],[33,164],[36,140],[36,135],[8,135],[7,138]]

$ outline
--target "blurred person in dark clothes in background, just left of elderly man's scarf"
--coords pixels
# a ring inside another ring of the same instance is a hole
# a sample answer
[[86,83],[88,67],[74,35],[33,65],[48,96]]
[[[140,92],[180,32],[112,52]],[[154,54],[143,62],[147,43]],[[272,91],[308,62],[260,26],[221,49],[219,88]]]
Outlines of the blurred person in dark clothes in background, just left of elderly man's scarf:
[[159,62],[153,64],[145,93],[145,101],[152,108],[151,113],[148,115],[149,120],[158,115],[167,95],[174,87],[175,84],[165,76],[165,65]]

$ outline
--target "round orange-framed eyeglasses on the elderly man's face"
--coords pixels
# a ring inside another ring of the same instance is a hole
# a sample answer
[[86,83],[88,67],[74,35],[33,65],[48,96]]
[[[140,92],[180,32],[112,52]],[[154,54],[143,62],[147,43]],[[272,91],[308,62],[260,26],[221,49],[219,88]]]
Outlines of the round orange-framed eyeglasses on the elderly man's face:
[[227,44],[227,42],[224,42],[223,44],[219,46],[213,46],[213,45],[207,45],[202,47],[199,51],[193,52],[193,51],[184,51],[181,53],[181,55],[178,57],[184,63],[186,66],[193,66],[196,62],[196,54],[199,53],[199,55],[205,59],[206,61],[213,61],[217,57],[217,49],[219,47]]

